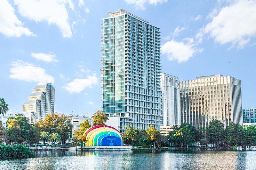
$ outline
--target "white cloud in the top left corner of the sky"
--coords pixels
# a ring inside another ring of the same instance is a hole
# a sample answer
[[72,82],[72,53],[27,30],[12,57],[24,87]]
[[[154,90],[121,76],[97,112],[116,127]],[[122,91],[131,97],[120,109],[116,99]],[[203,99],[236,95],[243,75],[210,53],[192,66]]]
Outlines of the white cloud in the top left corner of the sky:
[[14,8],[7,0],[0,1],[0,32],[6,37],[20,37],[21,35],[35,36],[14,14]]

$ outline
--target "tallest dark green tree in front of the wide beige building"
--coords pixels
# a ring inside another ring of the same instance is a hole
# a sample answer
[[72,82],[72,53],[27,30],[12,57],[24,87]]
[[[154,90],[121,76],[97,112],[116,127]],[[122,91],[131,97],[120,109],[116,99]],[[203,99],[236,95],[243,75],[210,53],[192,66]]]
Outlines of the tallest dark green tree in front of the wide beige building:
[[206,132],[207,140],[217,145],[217,143],[220,143],[224,138],[224,125],[219,120],[212,119]]

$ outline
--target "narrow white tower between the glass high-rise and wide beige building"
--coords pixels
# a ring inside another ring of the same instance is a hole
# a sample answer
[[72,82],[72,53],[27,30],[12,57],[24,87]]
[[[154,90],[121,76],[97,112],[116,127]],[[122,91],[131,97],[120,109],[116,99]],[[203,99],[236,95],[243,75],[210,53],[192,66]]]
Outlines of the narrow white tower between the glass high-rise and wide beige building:
[[163,125],[180,125],[180,81],[178,77],[161,73],[163,92]]

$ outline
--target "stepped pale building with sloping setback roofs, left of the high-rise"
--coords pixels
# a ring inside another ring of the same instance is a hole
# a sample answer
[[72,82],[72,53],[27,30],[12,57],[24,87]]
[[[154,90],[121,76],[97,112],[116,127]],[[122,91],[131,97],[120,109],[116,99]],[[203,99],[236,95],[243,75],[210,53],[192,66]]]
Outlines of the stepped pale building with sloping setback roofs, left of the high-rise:
[[23,104],[23,113],[29,118],[29,123],[35,123],[54,113],[55,89],[52,83],[38,83],[28,100]]

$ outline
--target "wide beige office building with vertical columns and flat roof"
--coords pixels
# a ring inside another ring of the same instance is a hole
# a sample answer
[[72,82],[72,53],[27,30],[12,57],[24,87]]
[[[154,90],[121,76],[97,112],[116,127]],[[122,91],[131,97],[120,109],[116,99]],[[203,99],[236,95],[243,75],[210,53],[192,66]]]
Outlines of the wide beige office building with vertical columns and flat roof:
[[230,122],[243,125],[241,80],[222,75],[180,81],[181,123],[208,127],[212,119],[224,127]]

